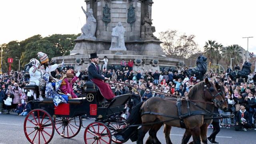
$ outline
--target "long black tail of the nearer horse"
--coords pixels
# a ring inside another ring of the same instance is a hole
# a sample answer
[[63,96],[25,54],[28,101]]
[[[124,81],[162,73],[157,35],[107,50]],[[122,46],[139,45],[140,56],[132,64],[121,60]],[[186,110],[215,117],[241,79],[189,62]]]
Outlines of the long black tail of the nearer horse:
[[132,109],[132,112],[127,120],[128,124],[142,124],[140,110],[143,103],[144,101],[140,102]]

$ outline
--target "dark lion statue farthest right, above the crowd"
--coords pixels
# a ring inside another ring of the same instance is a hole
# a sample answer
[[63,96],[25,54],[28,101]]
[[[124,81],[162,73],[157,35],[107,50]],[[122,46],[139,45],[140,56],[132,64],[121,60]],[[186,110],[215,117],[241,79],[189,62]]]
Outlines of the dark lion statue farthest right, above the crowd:
[[251,66],[252,64],[250,62],[244,62],[242,70],[239,70],[237,75],[236,72],[231,72],[228,75],[232,80],[236,80],[236,78],[240,78],[241,76],[242,78],[245,78],[245,80],[247,81],[248,75],[252,72]]

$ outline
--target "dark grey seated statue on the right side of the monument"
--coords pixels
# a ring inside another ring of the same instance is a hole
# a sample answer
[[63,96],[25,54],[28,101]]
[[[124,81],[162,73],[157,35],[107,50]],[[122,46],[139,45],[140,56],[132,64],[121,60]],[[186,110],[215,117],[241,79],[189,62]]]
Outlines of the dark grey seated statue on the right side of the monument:
[[145,34],[142,34],[142,38],[156,38],[156,36],[153,35],[153,32],[156,32],[156,28],[152,25],[152,20],[149,18],[149,13],[146,14],[145,18],[142,21],[142,32]]

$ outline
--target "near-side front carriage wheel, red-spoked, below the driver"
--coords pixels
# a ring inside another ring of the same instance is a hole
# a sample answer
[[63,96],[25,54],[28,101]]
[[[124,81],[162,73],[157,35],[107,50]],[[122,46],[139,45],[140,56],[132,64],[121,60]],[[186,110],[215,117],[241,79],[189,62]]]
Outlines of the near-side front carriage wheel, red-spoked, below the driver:
[[111,132],[102,122],[90,123],[84,131],[86,144],[111,144]]

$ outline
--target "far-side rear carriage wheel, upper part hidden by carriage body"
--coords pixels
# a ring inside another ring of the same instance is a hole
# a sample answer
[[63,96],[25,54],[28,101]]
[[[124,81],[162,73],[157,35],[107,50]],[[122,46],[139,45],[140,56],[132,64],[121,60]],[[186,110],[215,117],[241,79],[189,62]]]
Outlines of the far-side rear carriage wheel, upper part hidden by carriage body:
[[74,118],[54,118],[55,130],[63,138],[73,138],[76,136],[82,127],[81,117]]

